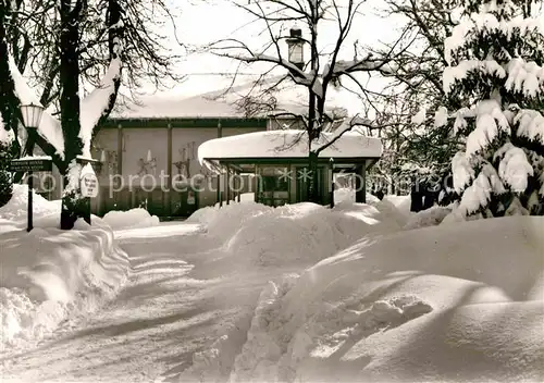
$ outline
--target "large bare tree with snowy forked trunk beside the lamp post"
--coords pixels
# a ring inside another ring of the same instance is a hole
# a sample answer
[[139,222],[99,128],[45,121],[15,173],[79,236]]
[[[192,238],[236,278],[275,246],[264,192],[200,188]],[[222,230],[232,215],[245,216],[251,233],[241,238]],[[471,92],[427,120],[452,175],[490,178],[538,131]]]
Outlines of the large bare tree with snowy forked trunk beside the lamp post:
[[[82,134],[96,134],[122,85],[133,95],[143,78],[157,86],[177,79],[174,55],[153,33],[153,17],[161,11],[165,20],[172,17],[162,0],[0,1],[2,120],[17,135],[22,102],[57,106],[60,121],[46,112],[49,132],[27,129],[25,149],[18,152],[32,155],[37,144],[65,177],[62,228],[88,215],[76,176],[78,157],[90,149],[90,137],[82,139]],[[30,73],[28,84],[23,71]],[[79,84],[92,90],[81,94]],[[42,89],[37,99],[29,96],[35,88]]]

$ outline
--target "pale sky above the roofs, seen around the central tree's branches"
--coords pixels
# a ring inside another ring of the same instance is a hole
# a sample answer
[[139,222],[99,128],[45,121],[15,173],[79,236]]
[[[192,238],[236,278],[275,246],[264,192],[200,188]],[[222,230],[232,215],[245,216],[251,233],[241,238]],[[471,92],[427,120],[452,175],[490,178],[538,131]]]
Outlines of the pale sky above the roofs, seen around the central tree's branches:
[[[191,0],[184,1],[183,4],[176,0],[170,0],[175,17],[175,28],[177,37],[182,42],[193,46],[203,46],[206,44],[225,38],[228,36],[238,37],[252,47],[259,47],[267,41],[267,36],[259,36],[263,29],[263,24],[251,23],[255,16],[244,10],[237,9],[228,0]],[[357,16],[353,26],[350,38],[346,42],[346,51],[343,59],[351,59],[354,55],[353,42],[359,40],[360,44],[376,44],[379,40],[391,40],[395,35],[395,23],[375,15],[375,9],[383,7],[382,0],[368,0],[361,8],[364,14]],[[398,23],[397,23],[398,25]],[[289,28],[290,25],[286,25]],[[320,42],[322,47],[330,46],[337,36],[335,25],[325,25],[320,29]],[[170,30],[173,36],[173,28]],[[177,48],[177,42],[172,38],[172,47]],[[287,47],[284,47],[285,54]],[[363,53],[363,52],[362,52]],[[210,53],[189,54],[177,65],[177,72],[187,75],[187,79],[169,94],[183,96],[194,96],[211,90],[217,90],[228,85],[228,81],[220,81],[218,76],[210,76],[210,73],[234,73],[237,63],[218,58]],[[268,67],[268,66],[265,66]],[[258,64],[245,67],[244,73],[260,73],[263,69]],[[243,76],[239,76],[243,82]],[[238,83],[237,83],[238,84]]]

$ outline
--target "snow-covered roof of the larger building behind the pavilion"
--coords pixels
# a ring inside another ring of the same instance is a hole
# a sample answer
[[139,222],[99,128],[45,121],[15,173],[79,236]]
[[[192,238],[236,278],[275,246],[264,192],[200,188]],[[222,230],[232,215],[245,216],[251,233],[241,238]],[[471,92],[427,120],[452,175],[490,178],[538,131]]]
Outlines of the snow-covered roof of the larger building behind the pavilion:
[[[201,76],[197,76],[200,79]],[[182,83],[175,90],[141,96],[139,102],[131,103],[114,110],[110,116],[113,119],[183,119],[183,118],[244,118],[244,111],[236,107],[236,102],[247,96],[255,86],[251,76],[243,79],[233,79],[225,76],[214,76],[217,88],[201,95],[186,97],[183,94]],[[189,78],[187,82],[196,81]],[[279,77],[271,77],[263,86],[272,86]],[[276,99],[276,110],[304,114],[308,107],[308,92],[306,87],[296,86],[288,81],[279,86],[273,96]],[[239,84],[239,85],[236,85]],[[258,96],[259,90],[251,91]],[[360,112],[361,101],[357,96],[347,90],[327,89],[327,110],[345,108],[350,115]],[[256,116],[267,116],[265,113]]]

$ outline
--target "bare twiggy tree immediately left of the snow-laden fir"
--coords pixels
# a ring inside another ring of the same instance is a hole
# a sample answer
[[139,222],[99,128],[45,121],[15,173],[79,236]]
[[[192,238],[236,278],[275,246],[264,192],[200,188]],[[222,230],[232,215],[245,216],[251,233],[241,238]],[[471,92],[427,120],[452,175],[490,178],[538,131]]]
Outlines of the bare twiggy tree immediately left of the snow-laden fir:
[[444,40],[456,25],[453,10],[449,1],[386,0],[383,17],[405,21],[398,36],[404,36],[406,50],[393,58],[395,71],[381,73],[388,85],[371,98],[382,119],[391,123],[382,132],[392,148],[382,165],[393,175],[400,175],[408,163],[443,174],[457,150],[450,124],[434,126],[433,113],[412,119],[423,109],[433,112],[460,104],[459,97],[445,94],[442,82]]

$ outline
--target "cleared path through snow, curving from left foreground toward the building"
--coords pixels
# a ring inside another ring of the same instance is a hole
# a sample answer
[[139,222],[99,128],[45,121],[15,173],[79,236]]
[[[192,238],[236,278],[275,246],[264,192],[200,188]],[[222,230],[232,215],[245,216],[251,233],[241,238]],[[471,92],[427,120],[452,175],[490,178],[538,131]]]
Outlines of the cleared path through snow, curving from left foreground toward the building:
[[[3,353],[2,382],[174,382],[195,353],[225,333],[233,353],[222,363],[233,363],[268,279],[206,272],[195,279],[206,254],[219,251],[198,225],[123,231],[118,237],[132,275],[116,299],[90,318],[65,322],[35,349]],[[228,368],[221,373],[226,378]]]

